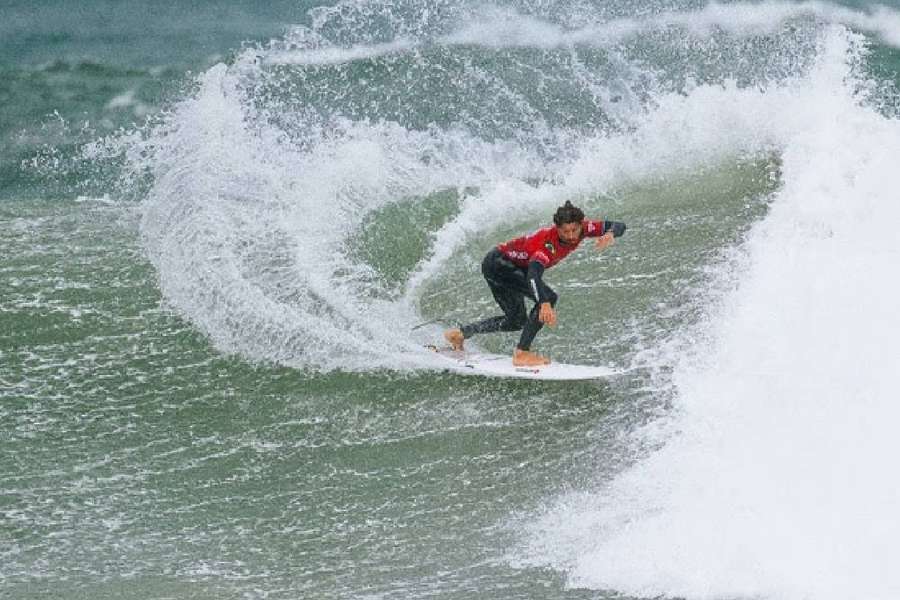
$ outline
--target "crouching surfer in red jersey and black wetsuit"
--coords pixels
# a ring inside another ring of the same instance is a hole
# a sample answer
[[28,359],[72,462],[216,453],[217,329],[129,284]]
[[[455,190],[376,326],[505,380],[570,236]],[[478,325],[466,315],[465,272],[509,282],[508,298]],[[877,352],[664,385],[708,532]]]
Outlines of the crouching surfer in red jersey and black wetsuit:
[[[476,333],[521,329],[513,364],[549,364],[549,358],[531,351],[531,342],[541,327],[556,325],[558,296],[544,283],[544,270],[568,256],[586,237],[596,237],[595,245],[602,251],[623,233],[625,223],[585,219],[580,208],[566,201],[553,215],[552,227],[498,244],[484,257],[481,272],[503,315],[448,329],[444,338],[454,350],[462,350],[465,340]],[[525,312],[526,296],[535,303],[529,314]]]

